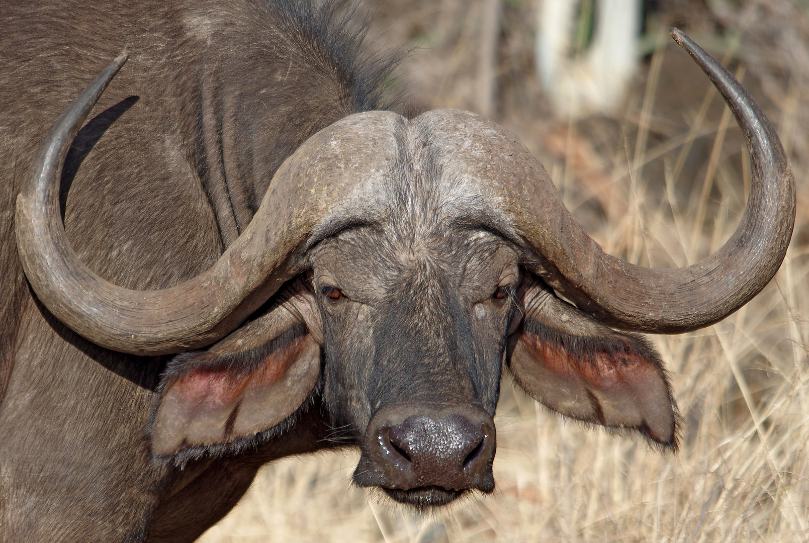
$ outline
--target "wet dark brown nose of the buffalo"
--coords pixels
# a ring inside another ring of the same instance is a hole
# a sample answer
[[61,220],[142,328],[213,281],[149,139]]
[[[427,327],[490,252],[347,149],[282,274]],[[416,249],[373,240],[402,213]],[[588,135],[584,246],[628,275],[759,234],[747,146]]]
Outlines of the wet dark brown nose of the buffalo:
[[477,405],[383,407],[363,441],[364,473],[358,466],[354,477],[361,486],[494,488],[494,422]]

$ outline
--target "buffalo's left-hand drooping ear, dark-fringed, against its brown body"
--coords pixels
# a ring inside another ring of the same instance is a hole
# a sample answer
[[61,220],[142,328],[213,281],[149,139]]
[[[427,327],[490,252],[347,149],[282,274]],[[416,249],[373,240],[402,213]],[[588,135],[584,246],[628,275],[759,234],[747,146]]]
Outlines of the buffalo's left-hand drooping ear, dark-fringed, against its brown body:
[[152,415],[153,453],[235,452],[307,401],[320,380],[320,346],[299,320],[279,323],[279,313],[290,320],[278,308],[169,363]]

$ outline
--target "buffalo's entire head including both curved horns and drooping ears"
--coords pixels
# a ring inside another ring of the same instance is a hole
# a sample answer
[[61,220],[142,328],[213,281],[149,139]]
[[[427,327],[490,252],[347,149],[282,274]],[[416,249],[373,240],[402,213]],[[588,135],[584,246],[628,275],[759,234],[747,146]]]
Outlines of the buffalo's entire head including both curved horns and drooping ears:
[[697,329],[756,295],[786,252],[794,186],[755,100],[672,34],[730,104],[754,172],[738,230],[697,265],[648,269],[604,254],[536,159],[483,117],[364,112],[282,164],[207,272],[164,291],[121,289],[66,243],[57,185],[121,57],[40,148],[17,206],[23,266],[44,305],[96,344],[184,351],[155,409],[159,456],[238,451],[318,397],[359,440],[359,485],[417,505],[489,492],[503,363],[550,409],[676,448],[665,371],[632,332]]

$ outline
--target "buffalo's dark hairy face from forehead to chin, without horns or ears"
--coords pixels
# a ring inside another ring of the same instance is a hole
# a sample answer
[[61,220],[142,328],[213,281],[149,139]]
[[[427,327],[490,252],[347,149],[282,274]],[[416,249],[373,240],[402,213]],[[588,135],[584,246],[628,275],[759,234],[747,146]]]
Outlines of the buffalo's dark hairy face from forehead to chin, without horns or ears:
[[519,253],[497,235],[420,227],[344,231],[316,248],[311,274],[324,405],[361,436],[354,481],[419,506],[493,490],[519,284]]

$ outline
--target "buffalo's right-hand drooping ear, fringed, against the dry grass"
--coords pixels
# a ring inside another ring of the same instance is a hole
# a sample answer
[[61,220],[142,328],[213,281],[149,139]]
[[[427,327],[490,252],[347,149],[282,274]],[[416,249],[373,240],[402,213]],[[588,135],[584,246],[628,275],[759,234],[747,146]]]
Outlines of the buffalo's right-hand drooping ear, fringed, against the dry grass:
[[643,337],[601,325],[538,281],[523,300],[509,367],[531,397],[567,417],[637,430],[676,450],[676,402]]

